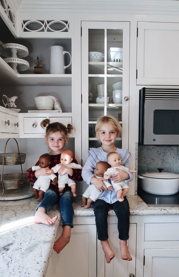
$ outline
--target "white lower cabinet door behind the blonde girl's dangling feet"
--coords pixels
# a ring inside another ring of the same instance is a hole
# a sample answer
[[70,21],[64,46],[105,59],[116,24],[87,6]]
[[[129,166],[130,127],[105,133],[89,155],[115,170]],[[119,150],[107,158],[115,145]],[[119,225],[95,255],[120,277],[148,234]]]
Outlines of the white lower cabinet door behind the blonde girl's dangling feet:
[[135,276],[135,264],[136,264],[136,231],[137,225],[130,223],[128,249],[132,256],[132,261],[124,261],[120,257],[119,248],[119,233],[117,224],[108,224],[109,244],[115,252],[115,257],[111,263],[106,263],[105,256],[98,241],[97,248],[97,276],[98,277],[129,277],[130,274]]

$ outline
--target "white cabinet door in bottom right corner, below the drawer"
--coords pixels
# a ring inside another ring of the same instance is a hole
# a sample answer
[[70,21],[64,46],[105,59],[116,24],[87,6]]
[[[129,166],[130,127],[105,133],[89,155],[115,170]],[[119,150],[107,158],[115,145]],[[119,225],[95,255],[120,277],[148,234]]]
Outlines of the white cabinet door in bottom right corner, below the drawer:
[[178,276],[179,249],[144,249],[144,277]]

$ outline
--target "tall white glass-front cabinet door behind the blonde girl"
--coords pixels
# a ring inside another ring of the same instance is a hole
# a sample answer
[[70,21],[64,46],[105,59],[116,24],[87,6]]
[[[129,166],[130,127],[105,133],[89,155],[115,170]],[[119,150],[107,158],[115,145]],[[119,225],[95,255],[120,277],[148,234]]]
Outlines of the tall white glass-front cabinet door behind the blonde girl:
[[83,21],[82,159],[99,147],[95,124],[103,115],[115,116],[122,125],[116,146],[128,148],[129,117],[129,22]]

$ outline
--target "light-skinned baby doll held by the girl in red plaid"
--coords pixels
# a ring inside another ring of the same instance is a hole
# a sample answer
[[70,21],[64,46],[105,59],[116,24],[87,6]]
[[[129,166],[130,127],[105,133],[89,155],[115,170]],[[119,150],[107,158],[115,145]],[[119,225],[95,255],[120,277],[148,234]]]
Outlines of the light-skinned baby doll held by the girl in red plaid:
[[[60,164],[56,164],[54,167],[49,169],[47,173],[57,173],[58,170],[62,165],[66,167],[70,167],[73,169],[82,169],[82,166],[80,164],[75,164],[74,162],[71,162],[73,160],[73,152],[71,150],[64,150],[61,153],[61,158],[60,158]],[[59,187],[59,193],[60,195],[63,193],[65,184],[68,184],[68,186],[71,188],[71,192],[73,196],[77,196],[76,194],[76,183],[74,180],[68,178],[68,174],[65,175],[58,175],[58,187]]]

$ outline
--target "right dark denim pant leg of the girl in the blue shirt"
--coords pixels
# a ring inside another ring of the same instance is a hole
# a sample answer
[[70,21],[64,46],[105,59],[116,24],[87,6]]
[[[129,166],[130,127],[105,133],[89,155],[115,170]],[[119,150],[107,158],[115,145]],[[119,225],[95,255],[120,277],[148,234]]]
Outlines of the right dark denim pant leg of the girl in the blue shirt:
[[129,203],[126,197],[124,201],[116,201],[112,204],[112,208],[118,218],[119,239],[127,240],[129,238]]

